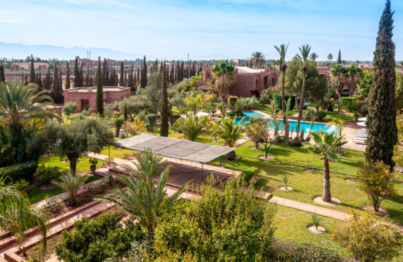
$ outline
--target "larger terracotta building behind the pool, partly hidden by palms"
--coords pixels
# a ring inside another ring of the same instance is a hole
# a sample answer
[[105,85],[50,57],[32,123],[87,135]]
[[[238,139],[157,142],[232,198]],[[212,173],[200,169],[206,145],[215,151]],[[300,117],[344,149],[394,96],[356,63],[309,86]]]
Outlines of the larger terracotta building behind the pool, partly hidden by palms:
[[[236,97],[260,97],[262,91],[277,83],[280,71],[269,72],[265,69],[252,69],[236,66],[236,81],[231,84],[229,94]],[[207,80],[211,78],[211,68],[203,66],[203,80],[198,81],[200,90],[207,90]]]

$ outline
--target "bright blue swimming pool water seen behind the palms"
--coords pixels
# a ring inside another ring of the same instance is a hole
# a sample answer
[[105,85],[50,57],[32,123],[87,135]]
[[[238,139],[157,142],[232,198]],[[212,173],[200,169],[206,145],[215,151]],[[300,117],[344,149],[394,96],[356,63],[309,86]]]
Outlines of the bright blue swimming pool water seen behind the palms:
[[[264,115],[256,113],[254,111],[243,111],[243,113],[246,115],[246,117],[242,121],[242,123],[248,123],[249,119],[251,119],[251,117],[265,117]],[[236,117],[235,123],[238,124],[241,119],[242,119],[242,117]],[[283,124],[282,120],[278,121],[278,125],[279,125],[280,130],[284,129],[284,124]],[[271,128],[274,128],[274,125],[272,125]],[[310,121],[305,122],[303,127],[302,127],[302,121],[301,121],[300,122],[300,132],[301,132],[302,128],[304,128],[305,134],[308,134],[310,132],[318,132],[320,130],[326,131],[328,134],[330,134],[332,132],[334,132],[335,134],[338,133],[337,127],[335,125],[326,126],[323,123],[313,123],[313,127],[311,130]],[[289,131],[296,132],[296,130],[297,130],[297,121],[289,121]]]

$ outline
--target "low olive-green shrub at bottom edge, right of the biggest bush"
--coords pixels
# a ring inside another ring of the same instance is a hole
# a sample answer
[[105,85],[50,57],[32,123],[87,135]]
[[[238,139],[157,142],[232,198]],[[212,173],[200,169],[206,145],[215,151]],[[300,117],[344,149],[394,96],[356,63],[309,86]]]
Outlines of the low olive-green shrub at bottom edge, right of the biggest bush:
[[284,262],[342,262],[346,259],[329,248],[313,243],[296,243],[276,239],[273,241],[274,261]]

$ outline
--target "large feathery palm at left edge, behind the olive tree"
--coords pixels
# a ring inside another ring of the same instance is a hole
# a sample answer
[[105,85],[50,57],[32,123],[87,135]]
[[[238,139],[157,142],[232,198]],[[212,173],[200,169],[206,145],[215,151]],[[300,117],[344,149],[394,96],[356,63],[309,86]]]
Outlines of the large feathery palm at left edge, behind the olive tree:
[[10,128],[12,136],[21,134],[28,128],[30,119],[43,119],[58,116],[46,108],[52,103],[47,90],[37,92],[37,85],[25,81],[0,83],[0,120]]

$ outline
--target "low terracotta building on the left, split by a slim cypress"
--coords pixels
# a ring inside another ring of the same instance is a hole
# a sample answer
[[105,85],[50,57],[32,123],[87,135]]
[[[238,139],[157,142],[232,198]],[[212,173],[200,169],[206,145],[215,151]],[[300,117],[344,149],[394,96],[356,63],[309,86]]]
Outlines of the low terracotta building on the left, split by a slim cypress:
[[[124,86],[104,86],[103,99],[105,103],[114,103],[130,97],[130,88]],[[93,88],[72,88],[64,90],[64,103],[76,102],[77,112],[96,108],[96,87]]]

